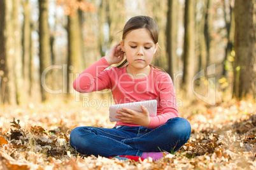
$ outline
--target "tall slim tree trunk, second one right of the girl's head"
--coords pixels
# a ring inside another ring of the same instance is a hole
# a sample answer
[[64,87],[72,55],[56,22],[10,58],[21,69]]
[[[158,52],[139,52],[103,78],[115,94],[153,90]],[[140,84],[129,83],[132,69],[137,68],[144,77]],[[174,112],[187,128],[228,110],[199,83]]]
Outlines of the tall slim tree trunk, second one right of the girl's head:
[[183,49],[182,87],[187,97],[192,97],[192,78],[195,74],[195,1],[185,1],[185,34]]

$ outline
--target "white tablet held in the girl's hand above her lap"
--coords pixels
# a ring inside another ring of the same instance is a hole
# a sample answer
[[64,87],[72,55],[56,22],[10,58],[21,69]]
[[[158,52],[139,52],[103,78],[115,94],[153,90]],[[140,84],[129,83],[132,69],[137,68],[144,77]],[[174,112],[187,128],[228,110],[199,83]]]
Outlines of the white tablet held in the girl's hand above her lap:
[[139,101],[134,103],[123,103],[123,104],[114,104],[110,106],[110,122],[117,122],[120,119],[116,118],[118,110],[123,111],[122,108],[128,108],[131,110],[140,111],[141,106],[145,106],[148,110],[150,117],[155,117],[157,115],[157,100],[150,100],[150,101]]

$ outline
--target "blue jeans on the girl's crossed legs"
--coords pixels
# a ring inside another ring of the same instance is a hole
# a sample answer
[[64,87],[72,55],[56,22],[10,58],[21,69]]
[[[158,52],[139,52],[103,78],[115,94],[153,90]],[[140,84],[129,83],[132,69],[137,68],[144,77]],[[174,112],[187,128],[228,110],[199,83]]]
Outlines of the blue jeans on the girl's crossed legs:
[[189,139],[191,127],[185,118],[171,118],[155,129],[148,127],[117,126],[76,127],[70,134],[70,145],[87,155],[110,157],[143,152],[176,152]]

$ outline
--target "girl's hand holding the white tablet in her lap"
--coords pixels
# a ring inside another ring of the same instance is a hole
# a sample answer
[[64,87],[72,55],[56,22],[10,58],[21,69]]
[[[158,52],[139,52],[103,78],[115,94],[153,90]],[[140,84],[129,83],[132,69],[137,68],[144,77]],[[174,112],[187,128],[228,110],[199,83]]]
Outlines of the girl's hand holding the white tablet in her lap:
[[127,108],[122,108],[122,110],[124,111],[117,111],[117,113],[121,115],[116,117],[120,119],[120,122],[142,125],[144,127],[148,127],[150,124],[150,116],[148,110],[144,106],[141,106],[143,112]]

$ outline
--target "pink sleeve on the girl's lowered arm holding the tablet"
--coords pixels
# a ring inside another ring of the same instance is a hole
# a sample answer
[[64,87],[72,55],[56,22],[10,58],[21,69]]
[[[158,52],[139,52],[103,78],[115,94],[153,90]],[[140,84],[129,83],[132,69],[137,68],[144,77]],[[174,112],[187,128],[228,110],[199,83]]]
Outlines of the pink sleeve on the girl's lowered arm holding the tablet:
[[153,129],[165,124],[170,118],[179,116],[173,81],[169,74],[160,74],[155,81],[159,91],[159,104],[162,107],[162,115],[150,117],[150,125],[148,127]]

